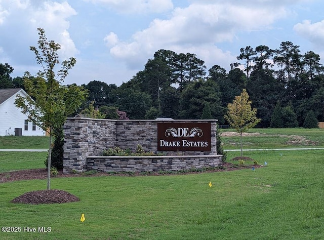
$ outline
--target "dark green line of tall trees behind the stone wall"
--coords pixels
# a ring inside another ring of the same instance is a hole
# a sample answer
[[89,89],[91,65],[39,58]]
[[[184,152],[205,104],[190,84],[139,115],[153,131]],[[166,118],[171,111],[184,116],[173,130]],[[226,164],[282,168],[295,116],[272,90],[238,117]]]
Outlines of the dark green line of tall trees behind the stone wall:
[[[318,54],[301,54],[299,46],[282,42],[274,50],[241,48],[237,60],[228,72],[219,65],[207,71],[195,54],[158,50],[142,71],[119,87],[100,81],[82,85],[89,91],[83,108],[92,103],[106,118],[118,118],[115,112],[120,110],[130,119],[210,117],[227,124],[227,104],[246,89],[262,119],[258,127],[324,122],[324,68]],[[23,88],[22,78],[10,78],[12,70],[0,64],[1,88]]]

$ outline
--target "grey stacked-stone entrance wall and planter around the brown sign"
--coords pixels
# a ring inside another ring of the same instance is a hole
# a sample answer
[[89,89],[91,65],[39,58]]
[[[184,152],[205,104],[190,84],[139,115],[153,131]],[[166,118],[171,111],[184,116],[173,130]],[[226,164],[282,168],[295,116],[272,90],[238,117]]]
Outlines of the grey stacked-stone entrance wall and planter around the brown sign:
[[110,120],[68,118],[64,125],[63,173],[87,170],[159,171],[217,167],[221,155],[216,152],[216,120],[181,120],[174,123],[211,122],[211,151],[161,152],[165,156],[102,156],[105,149],[118,146],[135,151],[140,144],[145,151],[157,152],[157,123],[169,121]]

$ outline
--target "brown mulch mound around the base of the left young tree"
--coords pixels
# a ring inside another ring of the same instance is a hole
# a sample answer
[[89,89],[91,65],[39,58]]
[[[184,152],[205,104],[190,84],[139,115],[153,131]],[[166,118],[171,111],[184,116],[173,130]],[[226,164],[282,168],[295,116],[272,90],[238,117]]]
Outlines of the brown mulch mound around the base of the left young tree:
[[11,202],[15,204],[63,204],[63,203],[71,203],[78,202],[80,199],[73,194],[58,190],[38,190],[26,192]]

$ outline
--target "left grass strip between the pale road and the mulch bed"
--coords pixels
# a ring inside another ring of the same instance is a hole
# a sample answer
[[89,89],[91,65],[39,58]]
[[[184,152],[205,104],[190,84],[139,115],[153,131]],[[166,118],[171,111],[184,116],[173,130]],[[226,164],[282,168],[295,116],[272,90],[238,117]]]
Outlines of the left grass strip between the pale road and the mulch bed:
[[0,173],[14,170],[46,168],[47,152],[2,152],[0,151]]

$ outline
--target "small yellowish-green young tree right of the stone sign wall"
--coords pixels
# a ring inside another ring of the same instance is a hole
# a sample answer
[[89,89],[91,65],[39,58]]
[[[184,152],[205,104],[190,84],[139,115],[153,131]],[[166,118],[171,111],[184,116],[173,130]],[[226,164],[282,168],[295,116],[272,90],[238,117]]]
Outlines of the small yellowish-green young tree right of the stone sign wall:
[[241,157],[243,156],[242,133],[261,122],[261,119],[256,117],[257,109],[252,109],[251,103],[247,90],[243,89],[233,103],[227,104],[227,115],[224,116],[229,125],[240,135]]

